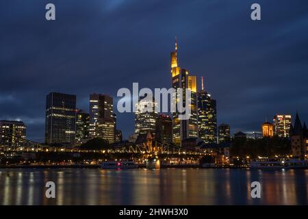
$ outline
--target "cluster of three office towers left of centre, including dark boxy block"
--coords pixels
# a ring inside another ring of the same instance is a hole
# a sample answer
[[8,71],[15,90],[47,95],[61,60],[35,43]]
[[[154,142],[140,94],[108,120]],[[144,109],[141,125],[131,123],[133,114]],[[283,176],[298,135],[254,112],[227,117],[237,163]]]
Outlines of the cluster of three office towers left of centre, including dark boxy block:
[[[47,95],[45,143],[79,146],[92,138],[110,143],[121,140],[116,130],[113,99],[107,94],[90,94],[89,113],[77,110],[76,96],[51,92]],[[120,136],[119,136],[120,135]]]

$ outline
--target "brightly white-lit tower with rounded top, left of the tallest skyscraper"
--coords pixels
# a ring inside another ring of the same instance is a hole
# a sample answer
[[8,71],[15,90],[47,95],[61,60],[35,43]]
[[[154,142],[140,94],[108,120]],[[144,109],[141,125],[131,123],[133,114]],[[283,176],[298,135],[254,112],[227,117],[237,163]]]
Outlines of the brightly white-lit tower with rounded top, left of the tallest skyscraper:
[[135,112],[135,133],[145,134],[150,131],[155,133],[156,119],[157,119],[157,103],[152,98],[140,98],[138,103],[136,103]]

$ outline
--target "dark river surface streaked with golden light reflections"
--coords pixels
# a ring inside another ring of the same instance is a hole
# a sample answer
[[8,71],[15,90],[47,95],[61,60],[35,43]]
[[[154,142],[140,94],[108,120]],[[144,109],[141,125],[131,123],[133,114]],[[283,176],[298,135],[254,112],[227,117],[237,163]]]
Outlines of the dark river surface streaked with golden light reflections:
[[[54,181],[56,198],[45,198]],[[261,198],[251,198],[251,182]],[[308,170],[0,169],[0,205],[307,205]]]

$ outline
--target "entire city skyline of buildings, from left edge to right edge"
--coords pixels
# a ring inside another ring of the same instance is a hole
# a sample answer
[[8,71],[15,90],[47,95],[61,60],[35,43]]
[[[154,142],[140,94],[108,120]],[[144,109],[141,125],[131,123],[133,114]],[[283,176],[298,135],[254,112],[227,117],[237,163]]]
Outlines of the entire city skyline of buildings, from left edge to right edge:
[[[205,89],[201,77],[201,90],[198,90],[196,76],[178,64],[177,39],[175,51],[170,54],[170,86],[175,94],[170,96],[174,103],[190,90],[190,118],[179,120],[179,112],[158,114],[155,99],[141,97],[136,103],[135,130],[129,142],[136,143],[142,138],[155,138],[158,142],[177,144],[177,146],[205,145],[225,146],[231,142],[230,126],[217,124],[216,100]],[[179,89],[183,88],[183,89]],[[183,92],[183,93],[180,93]],[[187,98],[187,97],[186,97]],[[183,101],[185,104],[185,99]],[[151,109],[151,112],[144,109]],[[55,146],[80,146],[93,138],[103,138],[110,144],[123,142],[123,133],[116,127],[116,114],[112,96],[90,94],[89,111],[76,107],[76,95],[51,92],[46,96],[44,142]],[[292,116],[276,114],[273,123],[266,121],[261,132],[235,133],[235,139],[246,138],[290,138],[292,155],[303,156],[307,153],[308,132],[302,125],[298,114],[292,125]],[[21,146],[26,139],[26,126],[21,121],[0,121],[0,145]]]

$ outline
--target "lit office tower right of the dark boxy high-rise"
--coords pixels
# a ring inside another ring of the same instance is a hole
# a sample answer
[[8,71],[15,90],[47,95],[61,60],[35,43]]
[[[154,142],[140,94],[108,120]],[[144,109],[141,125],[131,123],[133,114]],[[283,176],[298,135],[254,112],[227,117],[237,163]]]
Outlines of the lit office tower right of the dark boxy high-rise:
[[90,137],[114,143],[113,99],[107,94],[90,94]]

